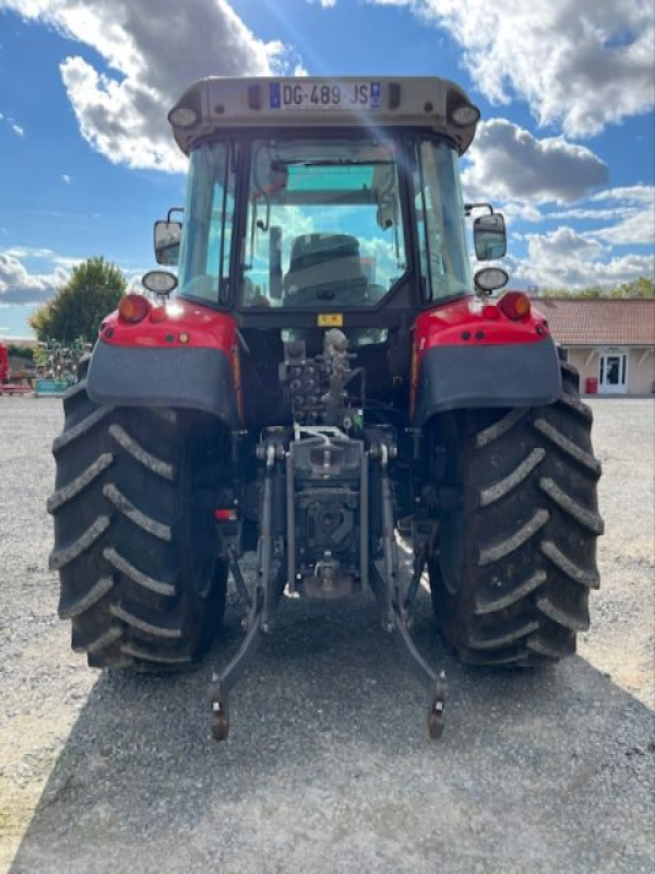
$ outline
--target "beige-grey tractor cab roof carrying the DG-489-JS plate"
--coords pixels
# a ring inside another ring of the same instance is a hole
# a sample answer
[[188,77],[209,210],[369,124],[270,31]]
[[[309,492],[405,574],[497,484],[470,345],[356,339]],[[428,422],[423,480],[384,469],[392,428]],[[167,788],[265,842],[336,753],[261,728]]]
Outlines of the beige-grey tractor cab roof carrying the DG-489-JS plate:
[[201,79],[168,114],[184,154],[235,128],[414,127],[442,133],[462,155],[479,110],[454,82],[437,76]]

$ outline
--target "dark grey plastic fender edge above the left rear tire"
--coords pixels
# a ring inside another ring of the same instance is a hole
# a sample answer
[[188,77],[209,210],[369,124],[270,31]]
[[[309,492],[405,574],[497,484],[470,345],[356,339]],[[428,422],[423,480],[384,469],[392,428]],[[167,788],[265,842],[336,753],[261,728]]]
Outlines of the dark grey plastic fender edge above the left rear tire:
[[111,406],[177,406],[212,413],[239,426],[227,356],[214,349],[139,349],[98,341],[86,390]]

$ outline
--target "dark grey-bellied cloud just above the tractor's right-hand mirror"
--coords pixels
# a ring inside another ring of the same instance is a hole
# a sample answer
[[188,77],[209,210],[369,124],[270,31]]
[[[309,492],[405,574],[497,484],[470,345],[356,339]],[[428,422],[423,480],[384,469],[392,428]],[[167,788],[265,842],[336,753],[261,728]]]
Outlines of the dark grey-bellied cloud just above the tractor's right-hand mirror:
[[478,126],[462,180],[466,197],[572,202],[608,181],[607,165],[562,137],[543,140],[504,118]]

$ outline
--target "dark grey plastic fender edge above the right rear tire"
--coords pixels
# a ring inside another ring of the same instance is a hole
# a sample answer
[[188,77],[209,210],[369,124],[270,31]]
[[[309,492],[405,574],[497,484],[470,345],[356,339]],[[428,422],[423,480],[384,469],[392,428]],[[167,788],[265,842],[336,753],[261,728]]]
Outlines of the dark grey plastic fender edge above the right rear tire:
[[539,406],[562,390],[555,343],[433,346],[420,363],[415,425],[467,408]]

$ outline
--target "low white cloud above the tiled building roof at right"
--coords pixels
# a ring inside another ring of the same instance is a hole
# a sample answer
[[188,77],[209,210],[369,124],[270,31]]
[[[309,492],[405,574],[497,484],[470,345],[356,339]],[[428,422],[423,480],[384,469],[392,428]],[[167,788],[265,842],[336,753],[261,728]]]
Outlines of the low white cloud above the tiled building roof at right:
[[582,288],[590,285],[619,285],[652,275],[652,255],[609,257],[599,241],[558,227],[548,234],[527,234],[527,258],[508,259],[514,279],[537,287]]

